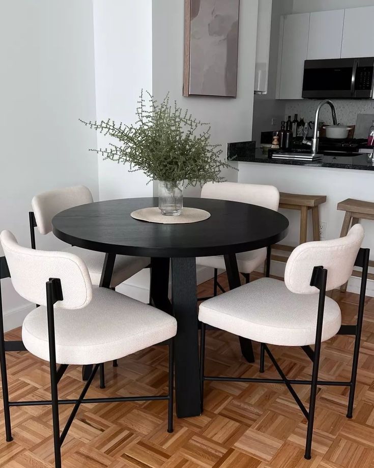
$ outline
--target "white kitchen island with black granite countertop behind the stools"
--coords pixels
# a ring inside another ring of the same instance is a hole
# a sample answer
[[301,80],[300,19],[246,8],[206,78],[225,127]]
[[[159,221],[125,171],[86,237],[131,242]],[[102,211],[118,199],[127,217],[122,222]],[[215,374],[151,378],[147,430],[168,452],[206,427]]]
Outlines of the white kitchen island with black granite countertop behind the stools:
[[[238,145],[238,143],[236,143]],[[319,162],[268,159],[261,149],[236,149],[229,145],[228,161],[239,169],[238,182],[274,185],[280,192],[310,195],[326,195],[327,201],[320,205],[320,221],[323,238],[340,236],[344,213],[337,211],[339,201],[346,198],[374,201],[374,170],[368,155],[332,157],[324,156]],[[283,241],[286,245],[298,245],[300,216],[291,210],[279,210],[290,220],[289,235]],[[374,221],[363,220],[365,239],[363,247],[370,248],[374,256]],[[308,241],[312,240],[311,222],[308,223]],[[323,239],[322,239],[323,240]],[[372,269],[370,269],[372,270]],[[273,275],[283,276],[284,264],[273,261]],[[349,291],[359,291],[359,278],[351,277]],[[374,297],[374,282],[368,281],[367,295]]]

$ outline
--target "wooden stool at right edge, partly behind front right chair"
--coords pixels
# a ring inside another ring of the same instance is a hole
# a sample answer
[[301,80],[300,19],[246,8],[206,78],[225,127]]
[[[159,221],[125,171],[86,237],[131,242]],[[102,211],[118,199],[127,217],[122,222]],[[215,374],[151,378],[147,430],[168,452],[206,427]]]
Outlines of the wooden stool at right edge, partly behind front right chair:
[[[374,202],[371,201],[362,201],[355,200],[353,198],[347,198],[347,200],[340,201],[337,206],[337,210],[345,211],[343,225],[341,227],[340,237],[347,236],[348,231],[350,230],[351,225],[360,222],[360,219],[370,219],[374,221]],[[369,267],[374,267],[374,261],[369,261]],[[352,276],[357,276],[361,278],[361,272],[353,270]],[[367,277],[369,279],[374,279],[372,273],[368,273]],[[347,291],[347,284],[343,284],[340,290],[345,293]]]

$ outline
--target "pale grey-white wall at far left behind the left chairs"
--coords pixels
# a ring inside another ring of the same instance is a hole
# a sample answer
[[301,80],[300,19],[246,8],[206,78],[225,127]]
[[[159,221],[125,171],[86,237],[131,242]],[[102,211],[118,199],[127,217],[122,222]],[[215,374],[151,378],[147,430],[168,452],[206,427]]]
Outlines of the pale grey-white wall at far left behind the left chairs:
[[[88,152],[96,135],[78,121],[95,118],[92,43],[91,0],[0,3],[0,229],[12,230],[21,244],[30,245],[27,213],[35,194],[84,184],[98,196],[97,158]],[[37,245],[64,244],[49,235],[38,236]],[[10,329],[27,303],[10,281],[2,286]]]

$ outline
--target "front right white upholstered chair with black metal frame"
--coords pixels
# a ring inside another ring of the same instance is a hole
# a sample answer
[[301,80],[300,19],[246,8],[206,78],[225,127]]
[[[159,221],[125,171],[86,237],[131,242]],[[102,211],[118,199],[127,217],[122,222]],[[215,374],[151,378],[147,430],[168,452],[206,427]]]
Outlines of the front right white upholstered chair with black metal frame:
[[[264,372],[265,351],[308,420],[305,458],[311,457],[311,441],[317,385],[342,385],[350,387],[347,417],[352,418],[356,374],[369,250],[361,249],[364,231],[360,224],[351,228],[346,237],[308,242],[295,248],[285,268],[284,282],[262,278],[233,289],[228,293],[200,304],[199,320],[202,322],[200,376],[202,394],[205,380],[225,380],[225,377],[204,375],[204,348],[206,324],[261,343],[260,372]],[[354,265],[363,268],[357,324],[341,325],[339,305],[326,297],[326,290],[339,288],[351,276]],[[336,335],[355,335],[355,349],[350,382],[330,383],[318,381],[321,342]],[[313,362],[309,381],[287,379],[276,363],[268,346],[301,346]],[[310,347],[314,345],[314,350]],[[231,381],[266,382],[266,379],[238,378]],[[270,382],[275,383],[275,379]],[[308,384],[309,411],[297,396],[292,384]]]

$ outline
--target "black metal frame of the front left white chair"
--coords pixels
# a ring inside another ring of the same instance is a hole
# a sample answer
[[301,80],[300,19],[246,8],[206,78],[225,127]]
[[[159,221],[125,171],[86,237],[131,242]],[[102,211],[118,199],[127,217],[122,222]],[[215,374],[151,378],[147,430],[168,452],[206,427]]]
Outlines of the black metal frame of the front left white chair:
[[[168,379],[168,394],[156,396],[131,396],[131,397],[111,397],[111,398],[84,398],[87,394],[90,385],[96,375],[98,369],[100,370],[100,388],[104,388],[104,372],[103,364],[96,364],[91,372],[88,381],[85,383],[83,390],[76,399],[59,399],[57,384],[59,384],[62,376],[64,375],[67,364],[61,364],[57,368],[56,364],[56,350],[55,350],[55,334],[54,334],[54,304],[57,301],[62,301],[63,291],[61,281],[59,278],[50,278],[46,282],[46,298],[47,298],[47,320],[48,320],[48,340],[49,340],[49,368],[50,368],[50,382],[51,382],[51,399],[50,400],[33,400],[33,401],[10,401],[8,389],[8,375],[6,352],[12,351],[26,351],[22,341],[5,341],[4,339],[4,321],[3,321],[3,304],[2,304],[2,291],[1,280],[10,278],[10,272],[6,258],[0,257],[0,368],[2,376],[3,388],[3,403],[4,403],[4,420],[5,420],[5,433],[6,441],[11,442],[12,429],[10,419],[10,408],[12,406],[37,406],[37,405],[51,405],[52,406],[52,422],[53,422],[53,443],[54,443],[54,459],[55,467],[61,468],[61,446],[65,437],[70,429],[75,415],[81,403],[113,403],[122,401],[152,401],[152,400],[168,400],[168,422],[167,431],[173,432],[173,385],[174,385],[174,338],[167,341],[169,346],[169,379]],[[60,419],[59,419],[59,405],[60,404],[74,404],[72,412],[68,421],[60,433]]]

